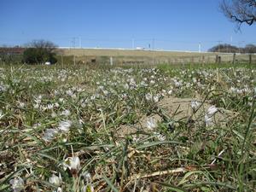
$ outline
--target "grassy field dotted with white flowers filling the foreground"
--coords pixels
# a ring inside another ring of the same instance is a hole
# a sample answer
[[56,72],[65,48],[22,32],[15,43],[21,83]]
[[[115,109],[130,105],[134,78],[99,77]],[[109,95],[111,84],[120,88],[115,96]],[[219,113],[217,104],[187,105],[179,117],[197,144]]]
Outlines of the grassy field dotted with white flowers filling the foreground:
[[0,68],[0,191],[255,191],[255,67]]

